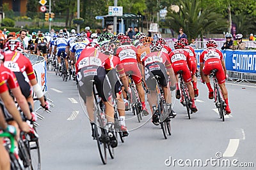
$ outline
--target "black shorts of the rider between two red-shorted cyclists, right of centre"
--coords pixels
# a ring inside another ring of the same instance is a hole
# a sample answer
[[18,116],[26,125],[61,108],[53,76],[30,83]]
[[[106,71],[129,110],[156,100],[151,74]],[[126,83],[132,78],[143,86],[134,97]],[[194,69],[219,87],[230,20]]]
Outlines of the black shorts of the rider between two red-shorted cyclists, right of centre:
[[163,63],[156,62],[145,66],[145,81],[149,90],[156,90],[156,79],[154,76],[159,76],[159,84],[162,87],[167,86],[168,75]]

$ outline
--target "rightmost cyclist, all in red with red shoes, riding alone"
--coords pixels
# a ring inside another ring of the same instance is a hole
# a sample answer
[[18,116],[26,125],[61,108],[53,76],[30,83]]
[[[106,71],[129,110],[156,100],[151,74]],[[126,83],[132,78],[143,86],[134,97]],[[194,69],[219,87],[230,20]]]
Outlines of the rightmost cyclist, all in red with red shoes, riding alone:
[[227,114],[231,113],[231,110],[228,105],[228,91],[225,86],[225,79],[226,79],[226,67],[225,62],[223,60],[223,55],[220,50],[216,47],[218,46],[216,41],[211,39],[206,43],[206,50],[204,50],[200,55],[200,74],[202,80],[205,81],[208,89],[209,89],[209,99],[213,99],[213,90],[210,83],[209,74],[211,73],[212,69],[218,69],[216,73],[216,78],[220,85],[221,92],[223,94],[225,103],[227,104],[225,110]]

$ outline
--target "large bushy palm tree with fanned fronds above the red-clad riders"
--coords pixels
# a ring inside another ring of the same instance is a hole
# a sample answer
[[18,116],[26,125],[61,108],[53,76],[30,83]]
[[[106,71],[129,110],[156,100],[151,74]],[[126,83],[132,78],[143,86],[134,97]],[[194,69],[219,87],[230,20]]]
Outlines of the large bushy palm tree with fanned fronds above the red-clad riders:
[[203,38],[209,32],[216,32],[218,29],[227,27],[227,22],[222,15],[216,13],[216,10],[210,5],[202,9],[200,1],[180,1],[179,8],[177,13],[168,9],[166,24],[173,30],[183,27],[188,39],[196,38],[199,35]]

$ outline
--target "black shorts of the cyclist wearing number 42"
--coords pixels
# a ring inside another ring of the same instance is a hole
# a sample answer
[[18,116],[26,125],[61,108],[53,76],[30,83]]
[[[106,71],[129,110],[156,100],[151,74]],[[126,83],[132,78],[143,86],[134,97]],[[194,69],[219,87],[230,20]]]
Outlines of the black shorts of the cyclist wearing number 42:
[[21,72],[13,72],[17,78],[17,81],[19,83],[20,86],[20,90],[23,94],[23,96],[26,97],[26,99],[28,99],[28,97],[31,94],[31,87],[29,85],[29,83],[25,80],[24,75]]

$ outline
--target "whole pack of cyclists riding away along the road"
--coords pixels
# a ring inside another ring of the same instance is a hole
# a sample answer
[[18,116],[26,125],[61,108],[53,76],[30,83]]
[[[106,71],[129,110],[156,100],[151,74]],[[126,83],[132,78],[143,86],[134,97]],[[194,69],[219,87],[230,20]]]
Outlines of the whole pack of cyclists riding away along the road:
[[[114,132],[113,99],[117,101],[117,110],[121,120],[120,129],[124,136],[129,135],[125,125],[125,110],[129,110],[130,106],[129,97],[127,96],[131,95],[129,75],[138,90],[142,106],[141,110],[144,116],[149,115],[145,104],[145,89],[148,90],[147,99],[154,125],[159,125],[159,114],[156,114],[157,96],[154,76],[159,77],[170,118],[174,118],[177,115],[172,110],[171,91],[175,90],[176,98],[180,99],[179,78],[177,75],[180,70],[182,70],[182,76],[188,87],[192,103],[191,110],[194,113],[198,111],[195,106],[195,98],[199,95],[196,81],[198,61],[196,61],[195,50],[188,45],[188,39],[182,38],[176,41],[174,43],[175,49],[172,50],[163,38],[153,40],[141,32],[136,34],[134,38],[130,39],[124,33],[114,36],[109,32],[91,34],[90,38],[88,38],[85,32],[76,33],[76,30],[73,29],[69,36],[65,32],[52,34],[52,36],[49,32],[45,32],[45,34],[32,32],[29,40],[28,48],[30,53],[43,55],[46,62],[47,58],[56,56],[58,69],[60,70],[60,57],[65,59],[67,70],[68,62],[72,65],[74,71],[72,74],[76,77],[79,94],[86,105],[90,118],[93,138],[95,138],[93,134],[95,122],[93,122],[94,98],[92,87],[93,84],[96,85],[97,92],[106,106],[106,125],[112,147],[117,146]],[[213,90],[209,74],[212,69],[218,69],[216,77],[227,104],[226,113],[230,114],[228,93],[225,87],[225,64],[222,53],[216,47],[214,40],[207,41],[207,49],[200,55],[200,75],[209,89],[209,99],[212,99]],[[12,129],[10,125],[13,125],[16,129],[29,132],[31,129],[26,122],[22,122],[13,97],[15,97],[26,118],[32,122],[35,121],[35,113],[31,113],[28,106],[28,102],[33,106],[31,89],[40,100],[42,108],[48,110],[49,103],[45,101],[42,89],[36,82],[31,62],[22,54],[22,43],[17,39],[9,39],[3,49],[4,51],[0,53],[0,97],[1,103],[3,103],[1,106],[3,105],[6,109],[2,108],[0,118],[3,115],[5,118],[11,117],[15,121],[8,122],[7,126],[4,124],[2,129],[9,131],[8,129]],[[24,73],[28,76],[29,82],[26,81]],[[3,110],[7,110],[8,114],[4,113]]]

